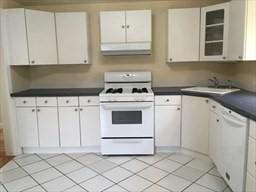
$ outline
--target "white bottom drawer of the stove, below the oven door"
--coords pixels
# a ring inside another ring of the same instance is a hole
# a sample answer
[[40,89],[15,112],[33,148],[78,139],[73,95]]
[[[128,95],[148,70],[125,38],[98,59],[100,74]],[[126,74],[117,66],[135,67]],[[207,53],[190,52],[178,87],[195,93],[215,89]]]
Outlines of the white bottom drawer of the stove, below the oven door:
[[153,139],[102,139],[103,155],[152,155],[154,154]]

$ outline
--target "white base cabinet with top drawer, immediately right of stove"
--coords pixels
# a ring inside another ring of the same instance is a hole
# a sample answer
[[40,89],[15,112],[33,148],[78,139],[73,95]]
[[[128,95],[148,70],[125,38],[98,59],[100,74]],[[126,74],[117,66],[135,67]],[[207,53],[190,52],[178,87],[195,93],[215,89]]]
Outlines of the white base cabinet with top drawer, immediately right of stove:
[[180,147],[180,129],[181,96],[156,96],[156,147]]

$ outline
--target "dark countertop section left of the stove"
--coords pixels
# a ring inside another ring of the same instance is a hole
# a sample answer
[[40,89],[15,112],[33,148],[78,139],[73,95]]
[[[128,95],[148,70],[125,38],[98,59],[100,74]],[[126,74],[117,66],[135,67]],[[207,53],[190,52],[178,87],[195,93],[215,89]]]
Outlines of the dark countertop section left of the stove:
[[103,88],[28,89],[12,93],[12,97],[98,96]]

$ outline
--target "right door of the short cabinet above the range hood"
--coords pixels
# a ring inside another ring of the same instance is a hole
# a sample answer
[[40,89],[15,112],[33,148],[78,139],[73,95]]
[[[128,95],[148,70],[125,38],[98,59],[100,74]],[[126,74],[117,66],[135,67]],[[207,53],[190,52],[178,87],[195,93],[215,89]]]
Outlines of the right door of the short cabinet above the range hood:
[[126,39],[128,43],[151,42],[151,10],[126,11]]

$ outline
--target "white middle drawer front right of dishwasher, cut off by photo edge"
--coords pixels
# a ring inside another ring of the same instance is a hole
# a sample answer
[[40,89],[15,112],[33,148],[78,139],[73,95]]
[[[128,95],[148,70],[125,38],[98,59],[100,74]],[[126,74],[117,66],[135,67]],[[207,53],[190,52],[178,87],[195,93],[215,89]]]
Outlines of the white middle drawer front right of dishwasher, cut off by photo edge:
[[256,140],[249,137],[247,171],[256,177]]

